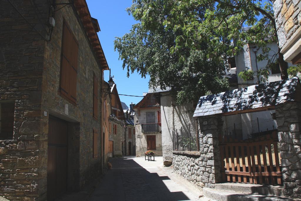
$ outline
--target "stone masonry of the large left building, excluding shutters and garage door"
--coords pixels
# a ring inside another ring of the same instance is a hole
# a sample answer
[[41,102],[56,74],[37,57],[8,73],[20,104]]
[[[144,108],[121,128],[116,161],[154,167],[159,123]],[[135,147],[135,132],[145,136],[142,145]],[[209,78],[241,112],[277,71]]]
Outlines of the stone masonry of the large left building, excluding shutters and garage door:
[[[0,140],[0,196],[46,200],[49,115],[68,121],[68,190],[82,188],[101,173],[101,157],[93,157],[93,129],[101,133],[101,102],[98,118],[93,117],[93,73],[101,80],[102,71],[72,7],[55,13],[47,42],[48,1],[35,1],[36,6],[29,0],[11,2],[35,28],[8,1],[0,2],[0,104],[14,105],[13,135]],[[57,93],[63,19],[79,44],[77,105]]]

